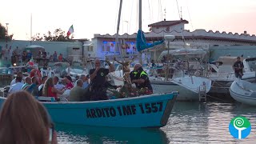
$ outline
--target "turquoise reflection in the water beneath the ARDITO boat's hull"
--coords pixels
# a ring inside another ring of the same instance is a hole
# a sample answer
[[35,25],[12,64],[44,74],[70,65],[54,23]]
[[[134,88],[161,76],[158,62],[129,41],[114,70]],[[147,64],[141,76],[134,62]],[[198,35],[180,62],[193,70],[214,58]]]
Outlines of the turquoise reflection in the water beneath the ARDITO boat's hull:
[[169,143],[160,129],[110,128],[57,124],[58,142]]

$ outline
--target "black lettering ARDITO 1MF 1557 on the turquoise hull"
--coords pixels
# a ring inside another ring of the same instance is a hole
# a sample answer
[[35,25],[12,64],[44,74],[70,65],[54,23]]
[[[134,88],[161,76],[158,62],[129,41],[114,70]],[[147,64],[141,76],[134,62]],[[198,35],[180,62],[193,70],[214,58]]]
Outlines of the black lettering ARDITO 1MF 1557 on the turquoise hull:
[[106,108],[86,109],[86,118],[110,118],[116,117],[117,115],[134,115],[138,113],[137,107],[141,114],[157,113],[162,111],[162,102],[141,103],[138,106],[126,105],[117,106],[116,108],[111,106]]

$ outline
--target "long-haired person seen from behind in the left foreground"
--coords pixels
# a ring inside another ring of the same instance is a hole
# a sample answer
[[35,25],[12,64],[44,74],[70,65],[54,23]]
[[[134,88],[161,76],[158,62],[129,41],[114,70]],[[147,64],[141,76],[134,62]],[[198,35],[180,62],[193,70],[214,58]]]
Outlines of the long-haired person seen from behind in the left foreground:
[[0,142],[46,144],[49,138],[37,100],[24,90],[10,94],[0,114]]

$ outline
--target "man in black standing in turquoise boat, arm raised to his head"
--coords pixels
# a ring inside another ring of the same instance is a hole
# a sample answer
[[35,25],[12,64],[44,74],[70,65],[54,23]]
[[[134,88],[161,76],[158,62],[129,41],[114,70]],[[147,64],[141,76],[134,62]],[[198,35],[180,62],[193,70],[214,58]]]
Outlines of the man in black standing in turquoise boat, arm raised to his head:
[[106,59],[106,63],[110,66],[109,69],[101,68],[101,62],[99,59],[95,59],[95,68],[90,70],[90,93],[91,93],[91,100],[98,101],[98,100],[106,100],[106,91],[103,90],[105,84],[105,77],[110,72],[114,71],[113,64],[110,63]]

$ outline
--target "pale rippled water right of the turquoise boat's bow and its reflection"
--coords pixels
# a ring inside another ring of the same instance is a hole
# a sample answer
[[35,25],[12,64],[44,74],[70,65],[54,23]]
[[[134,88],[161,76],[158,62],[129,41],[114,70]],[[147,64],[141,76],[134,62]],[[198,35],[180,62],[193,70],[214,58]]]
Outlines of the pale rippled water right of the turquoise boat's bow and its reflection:
[[243,142],[254,143],[256,110],[239,103],[177,102],[167,126],[161,129],[171,143],[237,143],[228,126],[238,115],[248,118],[252,126],[250,136]]

